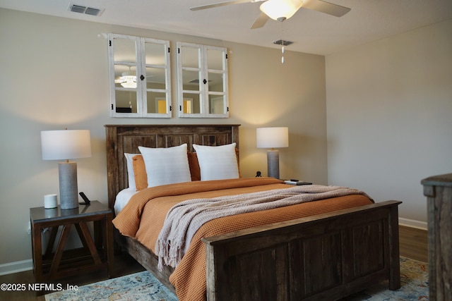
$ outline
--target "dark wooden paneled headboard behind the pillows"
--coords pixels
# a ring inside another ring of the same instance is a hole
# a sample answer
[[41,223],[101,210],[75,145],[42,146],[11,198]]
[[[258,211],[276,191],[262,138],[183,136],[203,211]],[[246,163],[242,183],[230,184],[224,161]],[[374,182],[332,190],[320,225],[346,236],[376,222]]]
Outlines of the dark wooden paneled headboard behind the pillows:
[[108,207],[119,191],[129,187],[124,153],[139,154],[138,146],[175,147],[187,144],[218,146],[237,143],[240,125],[105,125],[107,131]]

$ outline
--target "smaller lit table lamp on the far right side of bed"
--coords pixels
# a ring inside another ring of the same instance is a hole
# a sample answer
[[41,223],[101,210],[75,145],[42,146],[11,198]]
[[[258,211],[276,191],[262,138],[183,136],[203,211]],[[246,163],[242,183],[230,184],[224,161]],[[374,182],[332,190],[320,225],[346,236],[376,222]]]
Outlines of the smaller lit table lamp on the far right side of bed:
[[256,147],[267,151],[268,176],[280,178],[280,147],[289,147],[289,128],[256,128]]

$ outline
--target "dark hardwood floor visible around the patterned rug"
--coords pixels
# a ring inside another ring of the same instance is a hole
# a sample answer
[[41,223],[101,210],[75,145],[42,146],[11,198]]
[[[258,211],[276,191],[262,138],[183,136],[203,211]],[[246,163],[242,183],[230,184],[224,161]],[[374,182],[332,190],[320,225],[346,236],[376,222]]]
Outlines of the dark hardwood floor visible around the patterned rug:
[[[420,262],[428,261],[427,252],[427,231],[406,226],[399,226],[400,237],[400,256],[418,260]],[[116,276],[124,276],[143,271],[144,268],[138,264],[135,259],[128,254],[119,254],[114,258]],[[97,272],[88,275],[80,275],[61,279],[55,283],[61,283],[64,287],[69,285],[85,285],[107,279],[107,272]],[[23,271],[16,274],[0,276],[0,283],[18,283],[28,285],[35,283],[32,271]],[[44,301],[44,295],[37,296],[35,291],[28,289],[23,291],[3,291],[0,290],[0,300],[10,301]]]

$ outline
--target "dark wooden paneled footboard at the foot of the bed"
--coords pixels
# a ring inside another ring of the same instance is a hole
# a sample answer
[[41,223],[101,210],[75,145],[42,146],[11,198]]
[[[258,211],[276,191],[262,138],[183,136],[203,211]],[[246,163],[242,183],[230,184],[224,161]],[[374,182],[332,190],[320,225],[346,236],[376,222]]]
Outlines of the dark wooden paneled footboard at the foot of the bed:
[[400,288],[397,201],[227,233],[206,242],[208,300],[338,300]]

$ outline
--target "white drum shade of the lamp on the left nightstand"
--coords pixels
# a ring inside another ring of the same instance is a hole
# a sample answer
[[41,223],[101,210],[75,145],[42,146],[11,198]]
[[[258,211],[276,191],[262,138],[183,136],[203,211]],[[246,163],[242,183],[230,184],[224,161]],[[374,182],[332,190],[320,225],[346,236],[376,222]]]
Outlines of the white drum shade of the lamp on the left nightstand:
[[89,130],[44,130],[41,132],[43,160],[86,158],[91,156]]

